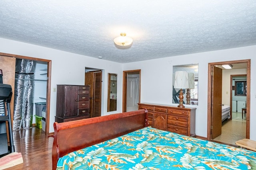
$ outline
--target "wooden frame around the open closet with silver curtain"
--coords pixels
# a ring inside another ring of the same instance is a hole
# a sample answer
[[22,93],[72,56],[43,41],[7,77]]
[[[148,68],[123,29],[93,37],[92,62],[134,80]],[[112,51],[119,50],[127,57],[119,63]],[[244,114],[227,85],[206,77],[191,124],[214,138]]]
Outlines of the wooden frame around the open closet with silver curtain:
[[[47,87],[46,87],[46,122],[45,122],[45,135],[49,136],[49,122],[50,122],[50,94],[51,94],[51,70],[52,70],[52,61],[46,59],[38,59],[34,57],[27,57],[22,55],[14,55],[8,53],[0,53],[2,56],[14,57],[16,59],[26,59],[33,61],[42,61],[47,63]],[[14,94],[14,93],[13,93]],[[11,112],[13,116],[13,111]],[[13,122],[12,122],[13,123]]]

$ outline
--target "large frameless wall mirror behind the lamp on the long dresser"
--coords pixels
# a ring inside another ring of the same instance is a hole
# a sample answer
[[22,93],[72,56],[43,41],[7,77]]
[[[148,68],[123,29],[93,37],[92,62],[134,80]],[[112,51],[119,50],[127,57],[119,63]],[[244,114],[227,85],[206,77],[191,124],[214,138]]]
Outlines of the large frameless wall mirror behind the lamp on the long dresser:
[[172,70],[172,103],[179,104],[180,89],[174,88],[175,72],[186,71],[194,73],[194,88],[183,89],[183,104],[198,105],[198,64],[184,64],[173,66]]

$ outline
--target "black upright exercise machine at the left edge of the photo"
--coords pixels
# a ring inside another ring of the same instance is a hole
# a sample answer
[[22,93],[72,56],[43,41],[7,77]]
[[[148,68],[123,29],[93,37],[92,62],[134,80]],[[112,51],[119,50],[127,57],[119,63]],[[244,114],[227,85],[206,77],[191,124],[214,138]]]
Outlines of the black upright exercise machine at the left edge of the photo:
[[[12,86],[9,84],[3,84],[3,73],[0,69],[0,157],[6,154],[15,152],[13,137],[12,137],[12,122],[10,112],[10,102],[12,98]],[[7,114],[6,114],[7,111]],[[6,121],[8,122],[9,141],[8,146]]]

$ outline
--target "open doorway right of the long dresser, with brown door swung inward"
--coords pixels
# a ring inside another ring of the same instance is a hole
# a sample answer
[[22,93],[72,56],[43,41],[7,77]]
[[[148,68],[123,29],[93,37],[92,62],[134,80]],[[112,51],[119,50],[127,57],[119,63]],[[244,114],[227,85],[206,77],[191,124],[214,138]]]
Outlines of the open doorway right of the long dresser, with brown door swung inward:
[[[224,70],[221,66],[224,64],[230,65],[232,69]],[[232,107],[234,108],[234,106],[232,106],[232,93],[234,89],[231,81],[232,75],[243,71],[244,74],[246,74],[247,82],[247,95],[245,97],[245,108],[247,112],[245,122],[242,121],[242,113],[232,112]],[[225,113],[223,108],[228,108],[227,106],[229,106],[230,115],[222,119]],[[241,117],[238,117],[238,115]],[[237,118],[239,118],[239,121]],[[244,123],[244,126],[242,123]],[[243,127],[243,129],[241,127]],[[239,134],[238,130],[241,130],[242,133]],[[235,145],[235,141],[244,138],[250,138],[250,60],[209,63],[207,140]]]

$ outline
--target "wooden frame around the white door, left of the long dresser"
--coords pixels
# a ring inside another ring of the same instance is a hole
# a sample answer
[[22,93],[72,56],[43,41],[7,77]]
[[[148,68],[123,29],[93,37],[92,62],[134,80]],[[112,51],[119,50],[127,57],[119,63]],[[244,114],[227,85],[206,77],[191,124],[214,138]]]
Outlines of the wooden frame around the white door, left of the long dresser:
[[[141,70],[126,70],[126,71],[123,71],[123,97],[122,97],[122,112],[126,112],[126,106],[127,106],[127,75],[128,73],[132,74],[132,73],[136,73],[140,74],[141,76]],[[140,77],[140,82],[141,82],[141,77]],[[139,82],[139,83],[140,83]],[[139,84],[139,103],[140,103],[140,84]]]

